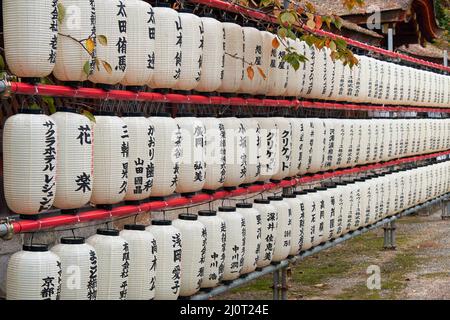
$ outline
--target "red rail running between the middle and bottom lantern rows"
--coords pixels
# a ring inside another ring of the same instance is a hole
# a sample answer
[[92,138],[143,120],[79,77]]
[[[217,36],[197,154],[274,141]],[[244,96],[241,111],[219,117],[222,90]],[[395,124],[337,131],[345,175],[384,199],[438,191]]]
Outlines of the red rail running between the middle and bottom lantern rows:
[[369,170],[381,169],[390,166],[413,163],[420,160],[426,160],[431,158],[436,158],[443,155],[450,154],[450,150],[436,152],[426,155],[400,158],[383,163],[375,163],[360,167],[347,168],[343,170],[336,170],[333,172],[317,173],[314,175],[303,176],[300,178],[293,178],[291,180],[283,180],[279,183],[266,183],[263,185],[251,185],[246,188],[237,188],[233,191],[216,191],[213,194],[198,193],[191,198],[187,197],[176,197],[168,199],[167,201],[152,201],[143,203],[141,205],[124,205],[113,208],[112,210],[95,209],[87,212],[79,213],[78,215],[57,215],[48,218],[41,218],[38,220],[20,220],[12,222],[14,233],[32,232],[39,231],[47,228],[55,228],[64,225],[73,225],[82,222],[88,222],[93,220],[104,220],[113,217],[125,217],[134,214],[139,214],[140,212],[157,211],[168,208],[176,208],[181,206],[187,206],[192,204],[200,204],[208,201],[219,200],[224,198],[243,196],[247,194],[253,194],[263,191],[269,191],[277,188],[291,187],[299,184],[311,183],[314,181],[329,179],[333,177],[339,177],[343,175],[356,174],[367,172]]

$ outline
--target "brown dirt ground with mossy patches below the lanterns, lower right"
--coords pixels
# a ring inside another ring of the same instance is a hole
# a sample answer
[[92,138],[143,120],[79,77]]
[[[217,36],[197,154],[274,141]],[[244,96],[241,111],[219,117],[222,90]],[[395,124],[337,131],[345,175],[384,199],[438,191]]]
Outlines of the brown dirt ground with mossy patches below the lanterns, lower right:
[[[397,250],[385,251],[374,230],[291,268],[289,299],[450,299],[450,220],[440,211],[397,222]],[[381,290],[366,285],[380,268]],[[271,276],[218,299],[271,299]]]

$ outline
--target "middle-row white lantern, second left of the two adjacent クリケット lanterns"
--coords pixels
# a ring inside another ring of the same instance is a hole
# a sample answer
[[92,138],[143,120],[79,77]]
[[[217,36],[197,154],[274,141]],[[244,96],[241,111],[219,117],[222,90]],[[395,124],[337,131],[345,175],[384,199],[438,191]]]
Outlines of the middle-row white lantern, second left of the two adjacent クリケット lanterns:
[[235,188],[247,176],[247,128],[239,118],[222,118],[226,132],[227,171],[224,187]]

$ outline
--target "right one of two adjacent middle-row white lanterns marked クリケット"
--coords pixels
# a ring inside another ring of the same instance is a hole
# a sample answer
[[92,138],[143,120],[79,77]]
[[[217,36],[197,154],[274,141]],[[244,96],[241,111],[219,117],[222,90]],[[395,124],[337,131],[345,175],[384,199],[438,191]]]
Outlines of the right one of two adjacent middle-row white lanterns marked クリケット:
[[272,176],[274,180],[282,180],[289,175],[292,156],[292,124],[288,118],[274,118],[278,130],[278,164],[276,173]]

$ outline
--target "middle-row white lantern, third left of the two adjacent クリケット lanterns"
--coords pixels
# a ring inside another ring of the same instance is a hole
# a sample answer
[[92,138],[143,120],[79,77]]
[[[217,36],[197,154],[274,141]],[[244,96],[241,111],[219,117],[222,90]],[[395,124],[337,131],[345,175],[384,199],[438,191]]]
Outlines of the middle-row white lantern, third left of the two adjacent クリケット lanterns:
[[221,119],[212,115],[200,115],[206,128],[205,134],[205,190],[222,187],[226,176],[226,131]]

